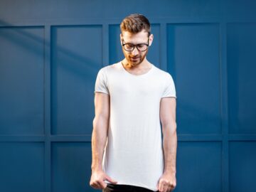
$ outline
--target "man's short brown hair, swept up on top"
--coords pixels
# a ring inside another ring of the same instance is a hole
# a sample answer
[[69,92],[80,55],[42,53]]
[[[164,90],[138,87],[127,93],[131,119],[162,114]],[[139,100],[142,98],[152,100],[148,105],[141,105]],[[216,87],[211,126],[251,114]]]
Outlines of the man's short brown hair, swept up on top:
[[131,14],[124,18],[120,24],[121,33],[128,31],[130,33],[139,33],[145,30],[150,35],[150,23],[149,20],[142,14]]

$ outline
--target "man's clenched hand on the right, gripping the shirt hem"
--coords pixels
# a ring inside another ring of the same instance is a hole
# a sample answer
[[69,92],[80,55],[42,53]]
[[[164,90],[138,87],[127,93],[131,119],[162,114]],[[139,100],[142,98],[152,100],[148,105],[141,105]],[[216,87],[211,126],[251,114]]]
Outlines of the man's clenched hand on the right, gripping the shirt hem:
[[175,187],[176,187],[175,174],[164,173],[159,178],[159,183],[157,184],[157,188],[159,192],[170,192],[170,191],[173,191]]

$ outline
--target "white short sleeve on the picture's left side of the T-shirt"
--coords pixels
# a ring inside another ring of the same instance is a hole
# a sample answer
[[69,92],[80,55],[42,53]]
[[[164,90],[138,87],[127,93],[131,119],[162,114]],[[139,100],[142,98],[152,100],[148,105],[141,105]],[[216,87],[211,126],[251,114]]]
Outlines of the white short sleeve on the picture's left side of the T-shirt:
[[107,88],[107,74],[105,70],[105,68],[101,68],[97,73],[97,78],[95,82],[95,92],[104,92],[106,94],[110,94]]

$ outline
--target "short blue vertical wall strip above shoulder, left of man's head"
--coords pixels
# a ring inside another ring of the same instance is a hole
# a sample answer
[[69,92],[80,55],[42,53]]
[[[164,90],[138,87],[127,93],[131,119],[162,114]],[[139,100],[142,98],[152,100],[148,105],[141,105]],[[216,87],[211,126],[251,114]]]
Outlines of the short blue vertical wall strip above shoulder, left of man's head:
[[109,54],[109,24],[103,23],[102,25],[102,66],[109,65],[110,54]]

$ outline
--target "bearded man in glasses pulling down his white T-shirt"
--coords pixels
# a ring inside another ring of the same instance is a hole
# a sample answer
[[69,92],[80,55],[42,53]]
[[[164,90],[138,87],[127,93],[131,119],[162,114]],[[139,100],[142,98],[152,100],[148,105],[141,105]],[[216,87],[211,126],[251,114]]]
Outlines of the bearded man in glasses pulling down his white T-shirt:
[[154,36],[145,16],[127,16],[120,28],[124,60],[100,69],[95,83],[90,186],[169,192],[176,186],[174,81],[146,60]]

